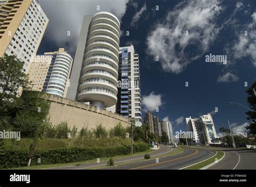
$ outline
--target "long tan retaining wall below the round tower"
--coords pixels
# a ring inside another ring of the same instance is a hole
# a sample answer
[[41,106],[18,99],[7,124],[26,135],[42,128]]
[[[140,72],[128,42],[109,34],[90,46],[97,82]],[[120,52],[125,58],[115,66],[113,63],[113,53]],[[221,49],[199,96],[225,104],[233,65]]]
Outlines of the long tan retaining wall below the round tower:
[[53,125],[66,121],[68,126],[77,127],[80,131],[83,126],[95,128],[102,123],[106,129],[116,126],[119,122],[124,126],[130,126],[130,118],[125,118],[117,113],[112,113],[104,109],[99,110],[96,106],[87,105],[74,100],[56,97],[45,93],[42,99],[51,102],[49,110],[50,122]]

